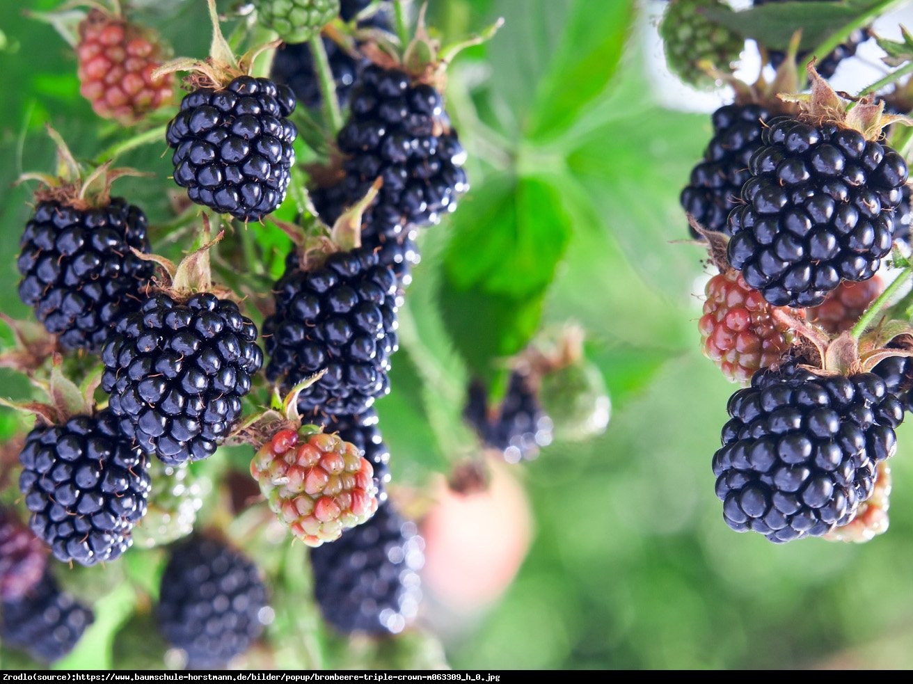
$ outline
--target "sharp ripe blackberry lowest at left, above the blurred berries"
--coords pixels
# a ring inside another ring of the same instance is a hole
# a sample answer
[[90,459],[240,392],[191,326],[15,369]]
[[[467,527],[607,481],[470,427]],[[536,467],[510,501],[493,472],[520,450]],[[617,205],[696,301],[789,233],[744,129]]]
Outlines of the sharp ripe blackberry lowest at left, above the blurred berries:
[[60,426],[37,426],[19,455],[19,489],[31,527],[58,560],[113,561],[146,513],[149,462],[104,410]]

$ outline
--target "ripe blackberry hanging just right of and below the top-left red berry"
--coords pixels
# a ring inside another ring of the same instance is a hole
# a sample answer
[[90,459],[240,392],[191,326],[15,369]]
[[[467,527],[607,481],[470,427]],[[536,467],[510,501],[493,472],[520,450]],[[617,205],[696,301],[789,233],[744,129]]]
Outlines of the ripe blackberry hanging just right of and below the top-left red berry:
[[288,86],[239,76],[223,89],[184,96],[168,124],[174,182],[220,214],[259,221],[285,199],[295,163],[295,110]]

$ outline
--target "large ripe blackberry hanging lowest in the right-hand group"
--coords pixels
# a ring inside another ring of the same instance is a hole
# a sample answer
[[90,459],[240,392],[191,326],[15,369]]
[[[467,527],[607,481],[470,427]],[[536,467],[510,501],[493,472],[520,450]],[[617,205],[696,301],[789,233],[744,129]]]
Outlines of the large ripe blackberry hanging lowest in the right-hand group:
[[893,456],[903,406],[876,374],[820,376],[796,363],[762,371],[729,398],[713,457],[723,518],[771,542],[852,521]]

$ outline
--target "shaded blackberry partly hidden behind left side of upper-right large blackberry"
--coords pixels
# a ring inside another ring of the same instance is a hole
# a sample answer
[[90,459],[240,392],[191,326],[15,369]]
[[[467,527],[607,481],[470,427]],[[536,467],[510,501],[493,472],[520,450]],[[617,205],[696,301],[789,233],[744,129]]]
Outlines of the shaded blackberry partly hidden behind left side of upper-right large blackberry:
[[[704,151],[704,161],[691,170],[691,180],[679,200],[687,214],[707,230],[729,233],[726,219],[750,178],[749,161],[761,147],[761,131],[770,116],[758,104],[727,104],[713,112],[713,138]],[[692,237],[700,237],[688,227]]]

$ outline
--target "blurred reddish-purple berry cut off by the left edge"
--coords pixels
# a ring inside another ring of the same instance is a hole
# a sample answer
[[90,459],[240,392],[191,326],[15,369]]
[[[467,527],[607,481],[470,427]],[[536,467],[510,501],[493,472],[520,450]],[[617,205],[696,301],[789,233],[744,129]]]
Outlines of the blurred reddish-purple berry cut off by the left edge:
[[0,600],[22,598],[38,584],[46,567],[44,545],[15,510],[0,508]]

